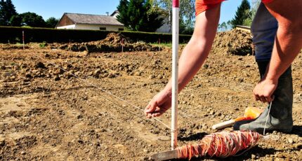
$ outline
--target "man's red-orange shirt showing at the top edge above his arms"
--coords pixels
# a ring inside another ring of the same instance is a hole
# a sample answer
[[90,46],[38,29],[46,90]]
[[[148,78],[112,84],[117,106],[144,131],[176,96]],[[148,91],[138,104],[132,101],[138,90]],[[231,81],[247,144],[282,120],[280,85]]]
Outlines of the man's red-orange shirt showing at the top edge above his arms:
[[[195,1],[195,15],[199,15],[199,13],[204,12],[204,10],[209,10],[214,8],[221,2],[225,0],[196,0]],[[263,3],[270,3],[273,0],[262,0]]]

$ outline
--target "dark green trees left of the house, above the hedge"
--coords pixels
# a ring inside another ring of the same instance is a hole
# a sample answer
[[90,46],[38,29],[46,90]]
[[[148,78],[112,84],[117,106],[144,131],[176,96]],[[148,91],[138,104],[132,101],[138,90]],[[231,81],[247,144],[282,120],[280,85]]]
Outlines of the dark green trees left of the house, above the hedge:
[[48,18],[46,21],[36,13],[17,13],[11,0],[0,1],[0,26],[28,26],[54,28],[58,23],[56,18]]

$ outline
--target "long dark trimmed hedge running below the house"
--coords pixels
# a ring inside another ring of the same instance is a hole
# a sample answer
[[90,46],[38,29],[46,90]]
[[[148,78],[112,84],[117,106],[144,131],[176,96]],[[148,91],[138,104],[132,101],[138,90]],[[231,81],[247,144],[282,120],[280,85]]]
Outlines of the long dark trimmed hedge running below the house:
[[[25,33],[25,43],[48,42],[68,43],[98,41],[112,32],[120,32],[133,41],[144,41],[146,43],[171,42],[171,34],[147,33],[138,31],[94,31],[79,29],[47,29],[47,28],[25,28],[25,27],[0,27],[0,43],[22,43],[22,31]],[[180,35],[180,43],[190,40],[190,35]]]

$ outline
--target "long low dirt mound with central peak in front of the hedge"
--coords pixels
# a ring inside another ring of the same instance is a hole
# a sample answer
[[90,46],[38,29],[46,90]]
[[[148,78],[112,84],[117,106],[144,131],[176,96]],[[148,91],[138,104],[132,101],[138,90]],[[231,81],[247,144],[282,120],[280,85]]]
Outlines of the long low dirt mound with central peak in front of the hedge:
[[120,33],[110,33],[101,41],[88,43],[71,43],[60,45],[60,49],[88,52],[122,52],[124,51],[158,51],[160,48],[145,42],[133,42],[130,38]]

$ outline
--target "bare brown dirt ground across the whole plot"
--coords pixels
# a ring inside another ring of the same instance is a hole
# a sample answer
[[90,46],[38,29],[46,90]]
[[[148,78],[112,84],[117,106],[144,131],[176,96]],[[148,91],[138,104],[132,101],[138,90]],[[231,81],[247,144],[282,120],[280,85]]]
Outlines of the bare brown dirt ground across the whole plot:
[[[241,56],[236,45],[228,48],[232,41],[249,43],[237,34],[219,35],[209,59],[179,94],[179,146],[216,132],[211,125],[242,116],[248,106],[265,108],[251,93],[259,78],[254,56]],[[170,149],[170,130],[143,114],[171,75],[169,48],[81,52],[55,44],[26,47],[0,48],[0,160],[147,160]],[[249,48],[244,45],[244,51]],[[302,160],[301,53],[292,69],[291,134],[273,132],[277,139],[261,140],[244,155],[223,160]],[[169,125],[170,116],[168,111],[159,119]]]

